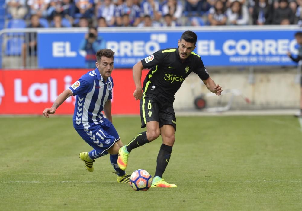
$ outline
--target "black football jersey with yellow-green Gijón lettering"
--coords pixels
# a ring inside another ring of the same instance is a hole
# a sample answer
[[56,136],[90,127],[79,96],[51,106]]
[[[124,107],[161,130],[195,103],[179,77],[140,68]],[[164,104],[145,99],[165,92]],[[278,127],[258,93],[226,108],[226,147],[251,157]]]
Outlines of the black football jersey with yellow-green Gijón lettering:
[[143,83],[144,92],[164,96],[169,101],[174,101],[175,93],[191,72],[202,80],[209,77],[199,55],[192,52],[182,62],[178,48],[159,50],[144,58],[142,64],[150,69]]

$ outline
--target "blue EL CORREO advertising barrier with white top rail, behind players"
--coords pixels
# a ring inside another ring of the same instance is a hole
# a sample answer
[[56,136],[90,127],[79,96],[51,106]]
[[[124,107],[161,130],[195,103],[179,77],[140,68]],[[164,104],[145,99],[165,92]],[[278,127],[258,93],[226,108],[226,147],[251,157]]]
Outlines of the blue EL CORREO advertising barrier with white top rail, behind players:
[[[222,26],[175,28],[99,28],[106,47],[116,52],[115,68],[132,68],[159,49],[177,47],[185,30],[198,35],[195,53],[205,66],[292,66],[287,51],[297,54],[294,33],[298,26]],[[35,35],[35,33],[37,33]],[[26,68],[85,68],[85,51],[79,49],[86,28],[4,29],[1,57],[4,68],[20,68],[22,45],[37,36],[37,49],[26,46]],[[30,55],[30,56],[28,56]],[[10,59],[13,58],[13,59]],[[33,61],[30,61],[34,58]],[[8,62],[8,60],[11,60]],[[8,63],[8,64],[7,64]]]

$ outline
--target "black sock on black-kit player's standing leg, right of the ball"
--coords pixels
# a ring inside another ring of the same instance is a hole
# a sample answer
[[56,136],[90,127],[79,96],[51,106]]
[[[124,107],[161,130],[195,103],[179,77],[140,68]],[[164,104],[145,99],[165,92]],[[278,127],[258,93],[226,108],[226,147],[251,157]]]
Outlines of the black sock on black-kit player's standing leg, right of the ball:
[[169,163],[171,152],[172,146],[168,146],[165,144],[162,144],[162,146],[160,146],[160,150],[156,160],[156,170],[154,177],[162,177],[162,174],[165,172],[165,169]]

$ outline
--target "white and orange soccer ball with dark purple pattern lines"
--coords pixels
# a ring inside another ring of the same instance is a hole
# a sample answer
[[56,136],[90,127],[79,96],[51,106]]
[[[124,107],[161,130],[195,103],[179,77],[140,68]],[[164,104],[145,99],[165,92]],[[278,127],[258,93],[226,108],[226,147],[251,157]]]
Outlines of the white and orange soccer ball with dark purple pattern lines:
[[146,170],[138,169],[131,174],[129,184],[135,191],[147,191],[151,187],[152,177]]

